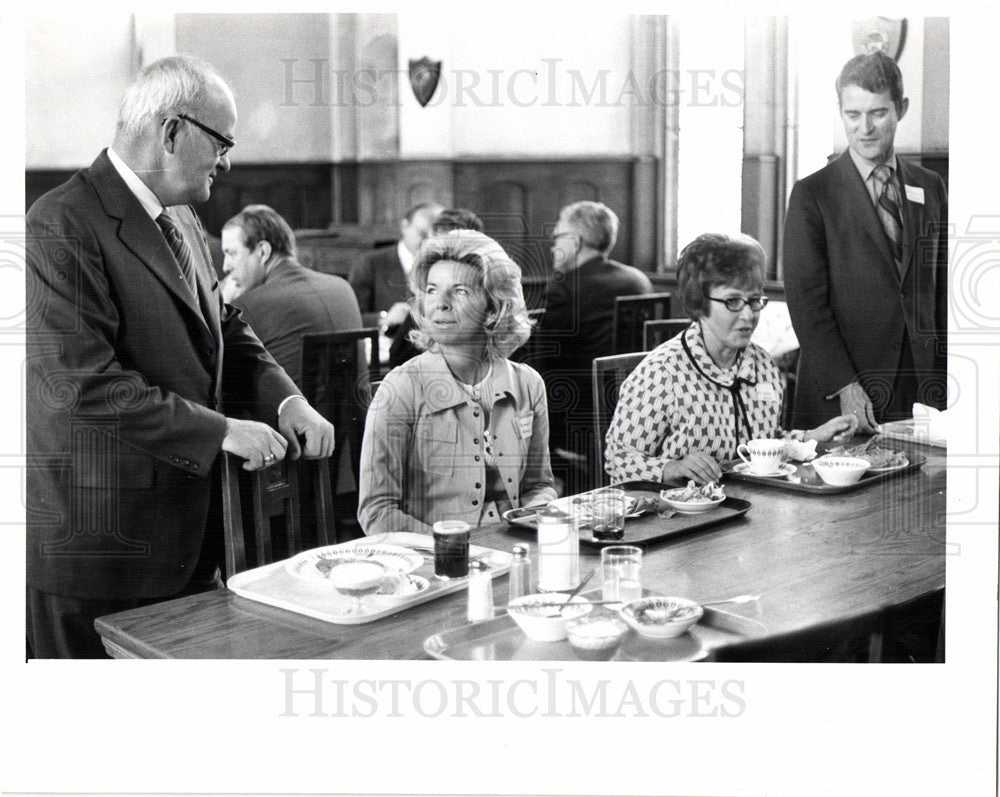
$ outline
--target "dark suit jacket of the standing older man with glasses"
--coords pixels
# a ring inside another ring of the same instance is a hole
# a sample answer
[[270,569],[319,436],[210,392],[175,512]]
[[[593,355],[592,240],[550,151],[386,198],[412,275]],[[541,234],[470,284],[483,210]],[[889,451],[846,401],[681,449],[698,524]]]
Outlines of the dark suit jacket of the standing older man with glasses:
[[[183,589],[226,409],[272,425],[292,381],[223,305],[204,232],[171,209],[200,301],[102,152],[27,227],[27,583],[73,598]],[[199,307],[200,304],[200,307]]]

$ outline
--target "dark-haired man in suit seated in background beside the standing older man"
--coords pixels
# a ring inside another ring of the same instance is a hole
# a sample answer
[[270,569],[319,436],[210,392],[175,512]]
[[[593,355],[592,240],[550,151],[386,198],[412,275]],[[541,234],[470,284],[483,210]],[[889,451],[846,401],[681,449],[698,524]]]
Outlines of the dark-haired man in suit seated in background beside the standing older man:
[[267,205],[249,205],[225,223],[222,252],[239,289],[230,303],[295,384],[302,384],[304,334],[361,328],[347,280],[299,265],[292,228]]

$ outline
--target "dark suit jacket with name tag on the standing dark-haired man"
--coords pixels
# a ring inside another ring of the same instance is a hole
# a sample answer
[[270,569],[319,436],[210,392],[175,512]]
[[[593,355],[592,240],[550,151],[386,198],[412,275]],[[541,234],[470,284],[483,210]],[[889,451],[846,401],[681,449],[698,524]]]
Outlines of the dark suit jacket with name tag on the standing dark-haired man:
[[825,396],[855,379],[873,401],[884,398],[904,334],[925,403],[944,403],[948,200],[935,172],[896,161],[903,185],[902,276],[849,152],[792,189],[784,279],[801,346],[795,426],[814,427],[838,414],[839,400]]

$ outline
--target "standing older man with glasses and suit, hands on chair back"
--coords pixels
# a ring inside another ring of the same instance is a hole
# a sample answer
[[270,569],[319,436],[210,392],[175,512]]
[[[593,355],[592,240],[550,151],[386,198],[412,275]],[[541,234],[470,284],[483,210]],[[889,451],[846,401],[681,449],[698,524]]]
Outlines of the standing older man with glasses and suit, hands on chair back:
[[95,617],[212,583],[220,452],[254,470],[332,451],[332,426],[222,303],[189,207],[228,171],[235,128],[211,66],[156,61],[126,90],[112,147],[28,213],[36,656],[101,656]]

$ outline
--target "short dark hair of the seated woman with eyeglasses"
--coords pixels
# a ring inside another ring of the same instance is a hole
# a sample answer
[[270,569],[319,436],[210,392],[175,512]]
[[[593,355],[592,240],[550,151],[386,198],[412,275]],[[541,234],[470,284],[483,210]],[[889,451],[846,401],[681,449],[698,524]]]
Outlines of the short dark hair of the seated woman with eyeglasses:
[[706,232],[684,247],[677,259],[680,300],[691,318],[708,315],[708,292],[719,286],[764,287],[767,256],[749,235]]

